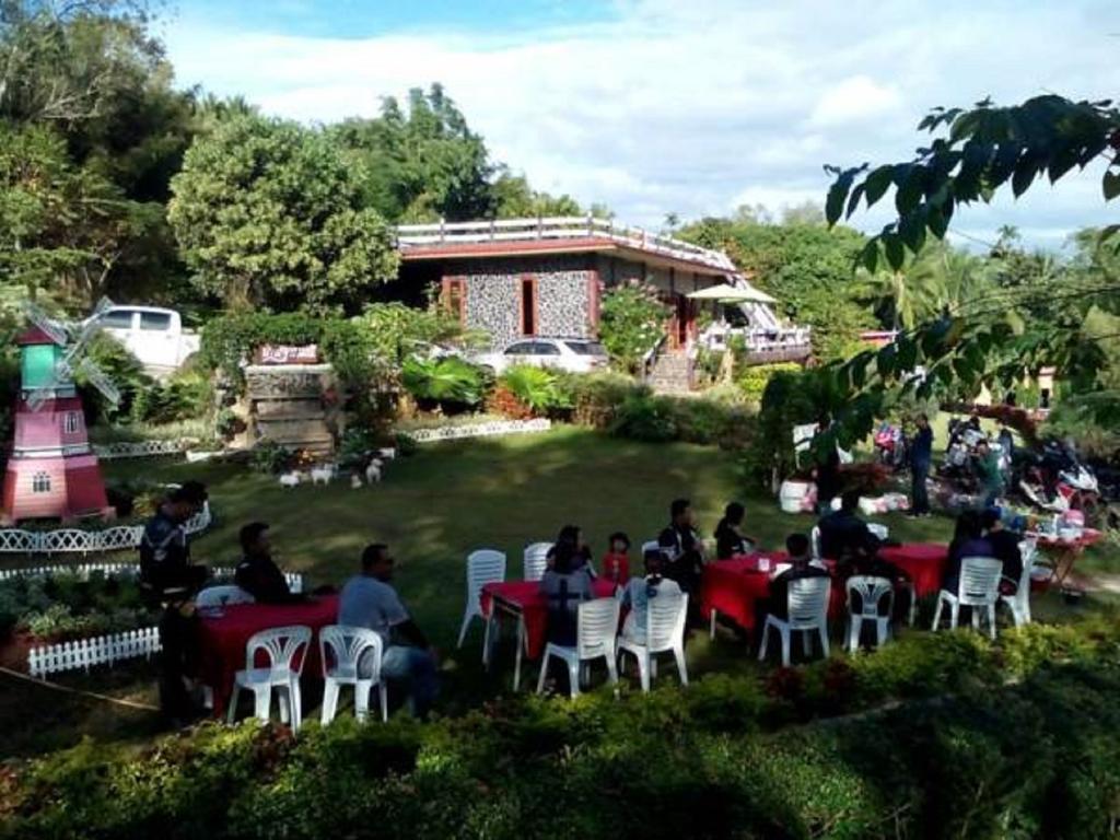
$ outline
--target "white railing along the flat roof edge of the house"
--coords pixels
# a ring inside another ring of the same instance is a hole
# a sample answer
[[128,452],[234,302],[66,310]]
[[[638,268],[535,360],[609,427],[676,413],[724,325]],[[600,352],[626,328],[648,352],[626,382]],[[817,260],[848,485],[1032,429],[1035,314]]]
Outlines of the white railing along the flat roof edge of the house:
[[400,225],[396,245],[402,251],[423,245],[467,244],[473,242],[516,242],[532,240],[605,239],[642,251],[699,262],[736,272],[727,254],[689,242],[651,233],[641,227],[618,225],[595,216],[553,216],[549,218],[503,218],[482,222],[438,222]]

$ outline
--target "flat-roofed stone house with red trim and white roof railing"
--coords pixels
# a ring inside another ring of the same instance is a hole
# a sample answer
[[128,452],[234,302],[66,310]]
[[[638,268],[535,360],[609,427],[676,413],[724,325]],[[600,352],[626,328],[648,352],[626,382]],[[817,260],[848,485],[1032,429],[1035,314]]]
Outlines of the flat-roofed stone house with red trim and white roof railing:
[[[402,225],[395,297],[438,295],[493,349],[532,336],[595,338],[603,295],[632,280],[653,286],[672,317],[651,366],[689,376],[704,339],[701,301],[721,283],[749,287],[727,254],[595,217],[517,218]],[[755,361],[803,361],[809,333],[781,324],[766,304],[736,307]],[[726,334],[726,333],[725,333]]]

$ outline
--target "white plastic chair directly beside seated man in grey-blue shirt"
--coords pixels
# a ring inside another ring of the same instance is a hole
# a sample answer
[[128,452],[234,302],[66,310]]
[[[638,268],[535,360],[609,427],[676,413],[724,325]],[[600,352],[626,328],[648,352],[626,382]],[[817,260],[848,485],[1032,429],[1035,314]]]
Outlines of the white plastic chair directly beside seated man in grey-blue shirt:
[[[354,717],[365,720],[370,709],[370,694],[377,687],[381,719],[389,720],[389,696],[381,679],[382,642],[368,627],[348,627],[332,624],[319,631],[319,660],[323,662],[323,710],[319,722],[326,726],[335,719],[338,691],[343,685],[354,687]],[[334,664],[328,664],[333,662]],[[358,673],[358,665],[366,665],[367,673]]]

